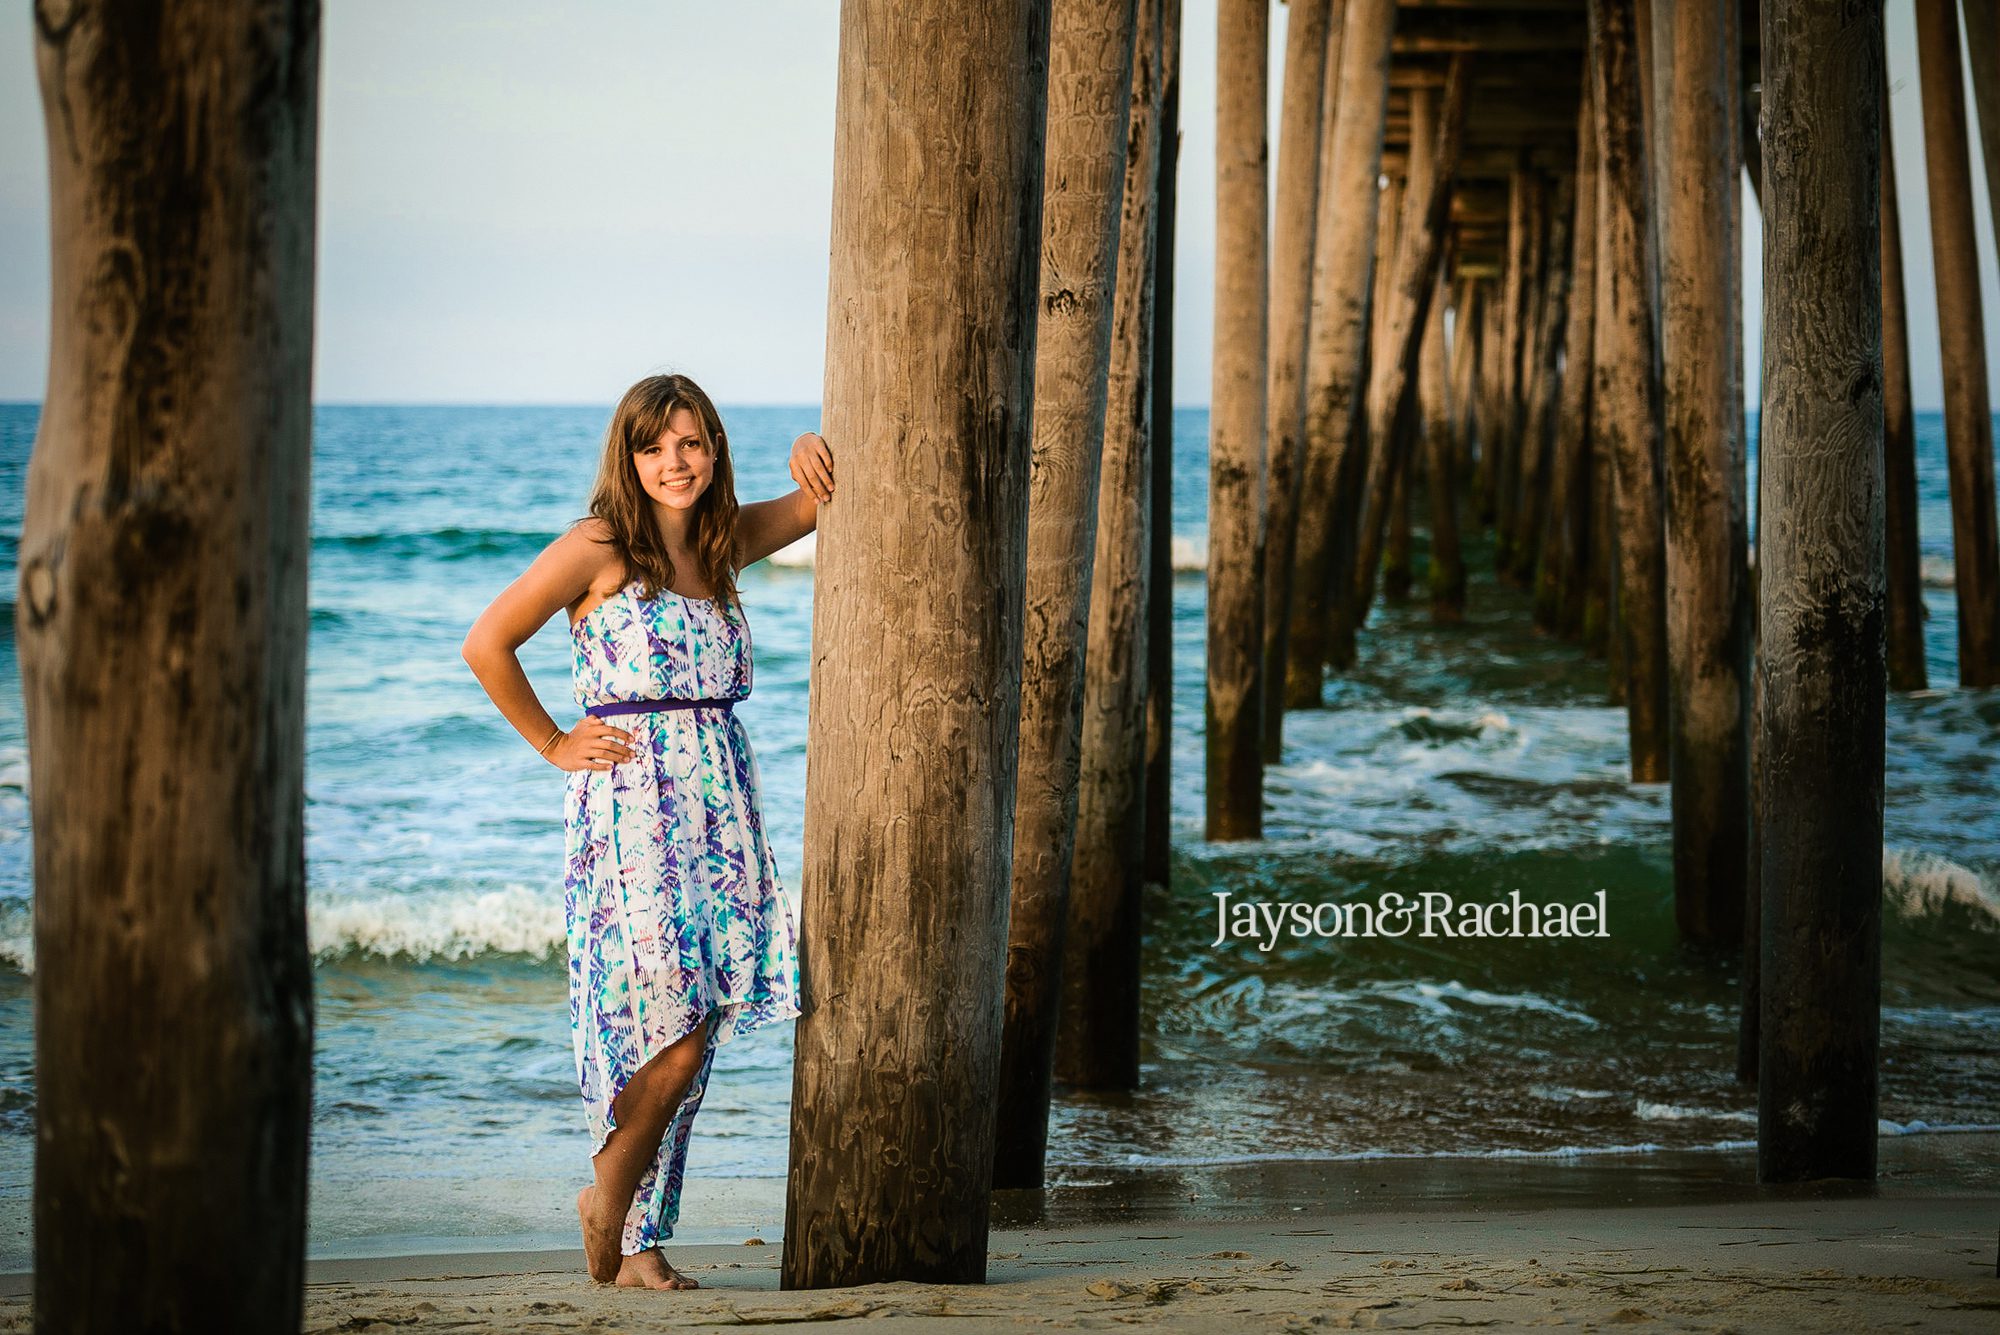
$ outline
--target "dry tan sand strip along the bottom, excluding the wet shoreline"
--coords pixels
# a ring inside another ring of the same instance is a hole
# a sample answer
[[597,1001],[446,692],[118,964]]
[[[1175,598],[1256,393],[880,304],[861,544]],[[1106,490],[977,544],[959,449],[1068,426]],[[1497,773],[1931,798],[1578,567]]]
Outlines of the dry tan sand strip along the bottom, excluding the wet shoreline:
[[984,1285],[804,1293],[778,1289],[770,1241],[684,1249],[702,1289],[680,1293],[594,1285],[580,1251],[342,1261],[314,1267],[304,1329],[1974,1331],[2000,1329],[1996,1227],[1988,1195],[1000,1229]]

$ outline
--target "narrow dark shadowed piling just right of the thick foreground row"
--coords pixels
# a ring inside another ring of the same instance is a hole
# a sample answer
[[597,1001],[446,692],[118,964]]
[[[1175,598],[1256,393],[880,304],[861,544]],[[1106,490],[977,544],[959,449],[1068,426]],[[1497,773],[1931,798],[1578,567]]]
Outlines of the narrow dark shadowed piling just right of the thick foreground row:
[[1174,755],[1174,198],[1180,174],[1180,0],[1160,20],[1160,184],[1152,244],[1152,560],[1146,570],[1146,881],[1172,879]]

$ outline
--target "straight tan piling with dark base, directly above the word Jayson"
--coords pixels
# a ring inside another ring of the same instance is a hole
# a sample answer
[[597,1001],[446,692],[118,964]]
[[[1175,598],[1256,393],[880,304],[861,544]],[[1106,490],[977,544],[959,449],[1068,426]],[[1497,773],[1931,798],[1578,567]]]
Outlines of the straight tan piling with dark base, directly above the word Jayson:
[[[1298,0],[1292,20],[1304,6]],[[1208,671],[1202,743],[1208,839],[1264,833],[1264,450],[1268,428],[1270,266],[1270,0],[1222,0],[1216,12],[1216,336],[1208,416]],[[1326,58],[1314,26],[1294,50]],[[1318,118],[1318,88],[1298,98],[1300,124]],[[1292,110],[1290,106],[1286,110]],[[1316,144],[1294,158],[1300,176]],[[1310,210],[1292,218],[1296,240]],[[1292,260],[1292,256],[1286,256]],[[1300,274],[1300,268],[1304,274]],[[1310,258],[1288,278],[1310,276]],[[1298,290],[1304,296],[1302,286]],[[1302,304],[1294,308],[1304,316]],[[1298,324],[1304,324],[1300,318]],[[1288,330],[1288,354],[1304,354]],[[1296,370],[1292,372],[1296,376]],[[1290,406],[1286,416],[1296,420]]]

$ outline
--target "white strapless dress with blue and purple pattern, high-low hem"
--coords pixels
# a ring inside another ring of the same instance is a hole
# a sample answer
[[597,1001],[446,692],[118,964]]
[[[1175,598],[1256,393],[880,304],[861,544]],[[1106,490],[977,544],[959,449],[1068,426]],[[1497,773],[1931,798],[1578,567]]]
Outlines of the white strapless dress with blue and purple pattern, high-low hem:
[[[570,628],[576,703],[750,693],[742,610],[634,580]],[[688,1131],[716,1047],[798,1015],[798,931],[734,709],[618,713],[638,755],[574,769],[564,793],[570,1035],[596,1155],[612,1099],[710,1025],[702,1065],[632,1195],[620,1249],[672,1237]]]

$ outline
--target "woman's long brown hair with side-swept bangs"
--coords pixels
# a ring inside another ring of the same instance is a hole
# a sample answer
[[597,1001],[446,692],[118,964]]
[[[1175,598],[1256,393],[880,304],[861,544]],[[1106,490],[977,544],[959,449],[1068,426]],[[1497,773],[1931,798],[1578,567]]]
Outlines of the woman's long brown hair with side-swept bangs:
[[[716,606],[728,610],[736,598],[736,470],[730,442],[714,402],[686,376],[646,376],[624,392],[604,432],[598,480],[590,490],[590,514],[610,528],[610,546],[626,564],[626,582],[644,580],[642,598],[658,598],[674,582],[674,562],[652,518],[652,498],[638,484],[632,456],[660,440],[678,410],[694,414],[702,446],[714,458],[708,490],[694,502],[694,564],[714,590]],[[578,520],[582,524],[582,520]]]

